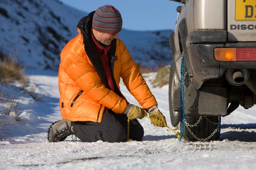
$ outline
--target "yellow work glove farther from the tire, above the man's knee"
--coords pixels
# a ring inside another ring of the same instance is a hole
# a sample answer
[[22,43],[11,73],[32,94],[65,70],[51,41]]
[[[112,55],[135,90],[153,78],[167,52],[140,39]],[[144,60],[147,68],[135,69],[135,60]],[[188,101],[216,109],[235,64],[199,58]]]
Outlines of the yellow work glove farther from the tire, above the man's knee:
[[123,113],[126,114],[130,120],[137,119],[137,118],[142,119],[143,117],[147,116],[147,113],[145,112],[145,110],[130,103],[127,105]]

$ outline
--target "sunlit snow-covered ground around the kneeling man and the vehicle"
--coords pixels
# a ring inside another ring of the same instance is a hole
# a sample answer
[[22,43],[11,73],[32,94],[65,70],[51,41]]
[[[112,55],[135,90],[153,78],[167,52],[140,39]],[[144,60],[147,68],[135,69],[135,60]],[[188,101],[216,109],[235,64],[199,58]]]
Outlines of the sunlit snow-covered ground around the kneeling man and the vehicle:
[[[63,142],[47,142],[48,127],[61,119],[57,73],[27,72],[35,94],[41,97],[35,101],[31,96],[21,95],[22,121],[2,128],[13,134],[5,134],[0,141],[2,170],[251,170],[256,165],[254,107],[239,107],[223,117],[219,141],[179,142],[173,132],[153,126],[144,118],[139,120],[145,130],[141,142],[89,143],[74,141],[72,136]],[[151,82],[155,76],[155,72],[144,74],[168,126],[173,128],[168,111],[168,85],[154,88]],[[138,104],[123,83],[120,86],[126,98]]]

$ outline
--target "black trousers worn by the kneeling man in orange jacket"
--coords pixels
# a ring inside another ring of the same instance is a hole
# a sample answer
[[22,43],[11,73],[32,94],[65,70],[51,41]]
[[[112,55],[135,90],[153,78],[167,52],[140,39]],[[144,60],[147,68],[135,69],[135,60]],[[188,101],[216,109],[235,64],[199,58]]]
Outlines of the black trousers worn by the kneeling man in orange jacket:
[[[83,142],[122,142],[127,139],[127,116],[116,114],[110,109],[105,108],[101,123],[92,121],[73,122],[73,131],[76,137]],[[130,120],[131,140],[141,141],[144,129],[137,119]]]

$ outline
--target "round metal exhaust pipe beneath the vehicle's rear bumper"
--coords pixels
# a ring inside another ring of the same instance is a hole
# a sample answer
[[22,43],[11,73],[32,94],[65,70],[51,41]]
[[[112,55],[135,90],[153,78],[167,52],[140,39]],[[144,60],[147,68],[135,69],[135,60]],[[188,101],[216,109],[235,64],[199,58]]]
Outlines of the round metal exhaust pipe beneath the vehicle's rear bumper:
[[256,95],[256,82],[251,78],[247,69],[228,69],[226,78],[233,86],[246,85]]

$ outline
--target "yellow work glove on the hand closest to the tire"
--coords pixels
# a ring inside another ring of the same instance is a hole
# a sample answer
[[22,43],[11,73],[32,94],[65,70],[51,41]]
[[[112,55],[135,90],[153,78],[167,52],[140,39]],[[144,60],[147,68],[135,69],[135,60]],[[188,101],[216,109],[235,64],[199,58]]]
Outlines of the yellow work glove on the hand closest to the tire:
[[157,106],[152,106],[148,109],[151,124],[159,127],[166,127],[167,123],[165,116],[160,112]]

